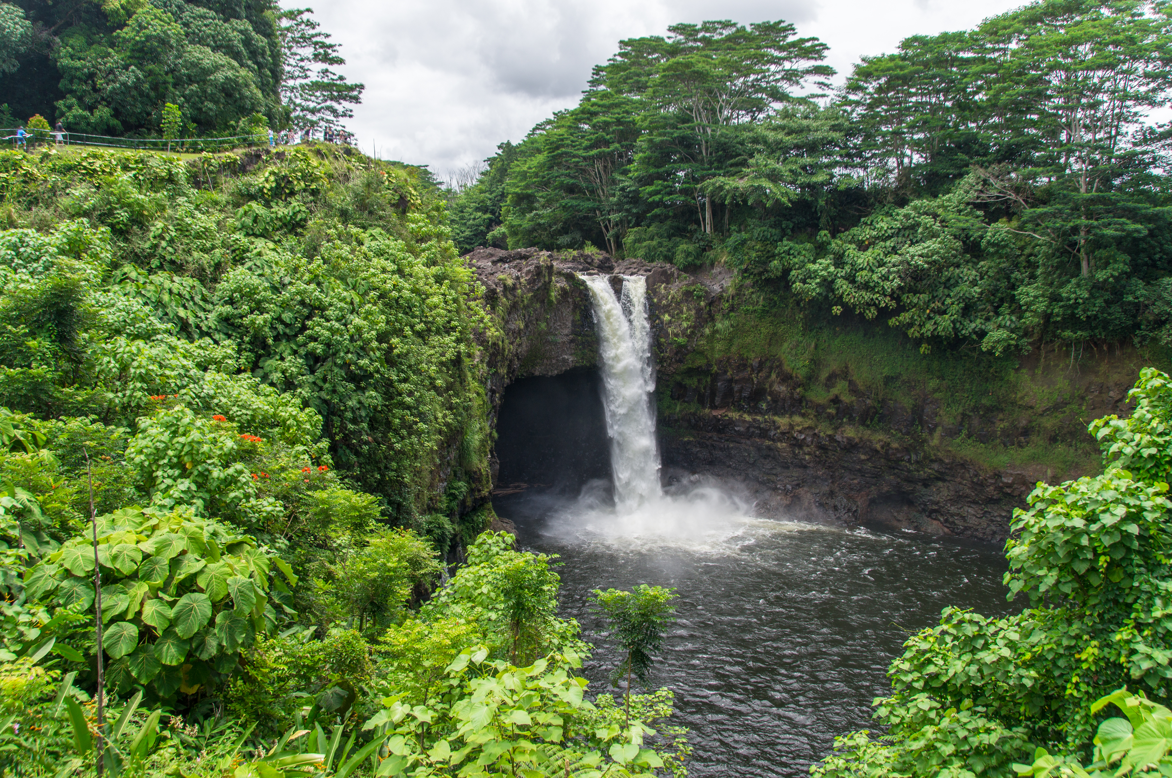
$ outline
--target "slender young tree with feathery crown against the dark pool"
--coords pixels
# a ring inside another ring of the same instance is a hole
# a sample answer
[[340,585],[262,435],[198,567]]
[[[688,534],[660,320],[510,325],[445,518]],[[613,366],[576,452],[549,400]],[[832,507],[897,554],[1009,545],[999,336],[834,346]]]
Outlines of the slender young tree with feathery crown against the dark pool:
[[653,654],[663,644],[663,629],[675,621],[675,589],[640,584],[632,592],[594,589],[594,610],[601,613],[611,635],[627,650],[627,658],[611,674],[611,681],[627,676],[627,724],[631,724],[631,676],[647,685]]

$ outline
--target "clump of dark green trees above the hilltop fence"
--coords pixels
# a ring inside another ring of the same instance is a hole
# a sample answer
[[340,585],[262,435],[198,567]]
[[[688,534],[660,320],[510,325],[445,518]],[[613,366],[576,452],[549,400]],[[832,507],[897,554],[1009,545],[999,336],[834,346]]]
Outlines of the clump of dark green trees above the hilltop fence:
[[173,138],[339,127],[363,87],[334,73],[345,60],[328,39],[308,8],[268,0],[0,2],[0,128],[42,117],[46,130]]

